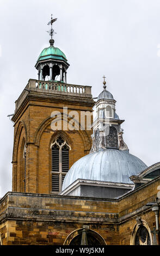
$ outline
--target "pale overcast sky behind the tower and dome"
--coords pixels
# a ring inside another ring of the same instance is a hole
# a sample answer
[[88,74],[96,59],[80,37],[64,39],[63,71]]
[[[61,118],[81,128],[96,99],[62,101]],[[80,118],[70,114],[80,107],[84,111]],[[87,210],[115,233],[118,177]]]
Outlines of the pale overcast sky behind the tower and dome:
[[113,94],[130,153],[147,166],[159,162],[159,0],[0,0],[0,197],[11,191],[15,100],[50,36],[70,64],[67,82]]

